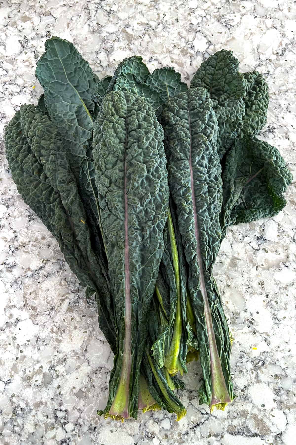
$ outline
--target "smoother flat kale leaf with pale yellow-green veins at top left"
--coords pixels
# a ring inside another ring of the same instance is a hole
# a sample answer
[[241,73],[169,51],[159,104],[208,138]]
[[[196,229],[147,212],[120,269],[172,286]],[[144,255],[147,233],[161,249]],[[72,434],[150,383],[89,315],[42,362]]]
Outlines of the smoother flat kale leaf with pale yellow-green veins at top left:
[[45,42],[36,77],[44,89],[49,117],[71,153],[69,161],[77,178],[86,151],[83,147],[92,137],[94,103],[91,98],[99,79],[74,45],[56,36]]

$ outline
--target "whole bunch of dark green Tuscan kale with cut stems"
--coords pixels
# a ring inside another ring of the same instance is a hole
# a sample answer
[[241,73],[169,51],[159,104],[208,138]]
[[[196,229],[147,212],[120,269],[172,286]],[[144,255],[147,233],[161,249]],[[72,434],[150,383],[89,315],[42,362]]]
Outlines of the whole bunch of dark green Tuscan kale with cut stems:
[[233,400],[232,336],[213,264],[226,228],[276,215],[292,180],[257,139],[268,87],[231,51],[201,64],[190,88],[142,57],[113,77],[52,37],[37,63],[44,94],[22,105],[5,142],[24,201],[55,236],[114,352],[105,418],[186,411],[176,376],[201,360],[200,403]]

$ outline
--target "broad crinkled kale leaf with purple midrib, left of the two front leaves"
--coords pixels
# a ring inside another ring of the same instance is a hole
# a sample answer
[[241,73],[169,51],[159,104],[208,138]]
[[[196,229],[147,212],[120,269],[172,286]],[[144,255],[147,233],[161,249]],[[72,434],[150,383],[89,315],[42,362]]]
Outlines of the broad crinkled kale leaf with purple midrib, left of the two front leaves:
[[93,155],[118,342],[105,417],[138,413],[146,318],[168,208],[162,139],[162,127],[144,99],[119,91],[103,99]]

